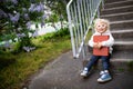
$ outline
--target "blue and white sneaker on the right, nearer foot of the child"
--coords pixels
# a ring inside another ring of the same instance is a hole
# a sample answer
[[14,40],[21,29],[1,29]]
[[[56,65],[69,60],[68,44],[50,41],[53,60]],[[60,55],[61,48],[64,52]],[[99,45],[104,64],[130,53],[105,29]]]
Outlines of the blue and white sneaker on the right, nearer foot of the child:
[[98,79],[98,82],[105,82],[111,80],[111,76],[108,70],[105,70],[103,73],[101,73],[101,77]]

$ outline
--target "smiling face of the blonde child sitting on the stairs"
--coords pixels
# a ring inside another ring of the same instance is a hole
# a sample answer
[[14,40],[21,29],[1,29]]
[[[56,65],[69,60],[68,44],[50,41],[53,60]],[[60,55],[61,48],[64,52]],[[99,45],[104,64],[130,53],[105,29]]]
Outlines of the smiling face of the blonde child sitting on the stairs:
[[106,31],[106,29],[108,29],[108,24],[106,23],[104,23],[104,22],[99,22],[98,24],[96,24],[96,31],[98,32],[100,32],[100,33],[103,33],[103,32],[105,32]]

